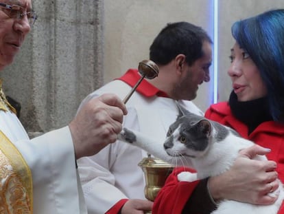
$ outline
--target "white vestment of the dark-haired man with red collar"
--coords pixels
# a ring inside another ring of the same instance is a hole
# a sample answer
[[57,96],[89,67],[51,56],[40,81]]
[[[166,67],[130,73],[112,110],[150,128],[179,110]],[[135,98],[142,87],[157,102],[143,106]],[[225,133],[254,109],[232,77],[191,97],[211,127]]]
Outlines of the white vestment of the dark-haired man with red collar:
[[[82,104],[104,93],[114,93],[123,99],[130,89],[123,81],[112,81],[87,96]],[[190,101],[179,103],[193,113],[202,114]],[[169,125],[178,116],[176,101],[158,96],[146,97],[138,92],[134,92],[126,107],[128,115],[123,118],[123,127],[141,131],[161,142],[165,140]],[[145,199],[144,175],[137,164],[146,156],[142,149],[117,141],[95,156],[80,158],[78,169],[88,213],[105,213],[125,198]]]

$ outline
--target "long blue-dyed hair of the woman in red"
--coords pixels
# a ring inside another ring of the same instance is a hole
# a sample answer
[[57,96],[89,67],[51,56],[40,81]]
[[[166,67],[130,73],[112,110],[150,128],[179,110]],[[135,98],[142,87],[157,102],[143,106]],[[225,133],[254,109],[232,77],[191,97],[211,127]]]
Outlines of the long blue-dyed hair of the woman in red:
[[284,10],[269,10],[237,21],[231,30],[239,47],[259,69],[273,120],[284,122]]

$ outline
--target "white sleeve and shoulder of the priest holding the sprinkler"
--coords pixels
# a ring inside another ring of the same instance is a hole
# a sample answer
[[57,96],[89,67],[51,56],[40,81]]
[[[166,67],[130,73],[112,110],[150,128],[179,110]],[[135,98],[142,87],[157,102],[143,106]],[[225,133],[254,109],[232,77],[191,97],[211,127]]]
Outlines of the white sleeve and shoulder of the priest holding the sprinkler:
[[34,214],[87,213],[69,127],[29,140],[16,115],[1,110],[0,131],[32,171]]

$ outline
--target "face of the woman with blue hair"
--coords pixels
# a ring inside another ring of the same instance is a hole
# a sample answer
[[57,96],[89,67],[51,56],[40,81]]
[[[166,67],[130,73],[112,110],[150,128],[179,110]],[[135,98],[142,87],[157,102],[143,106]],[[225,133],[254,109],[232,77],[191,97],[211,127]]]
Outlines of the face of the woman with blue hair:
[[267,95],[267,89],[260,76],[259,69],[245,50],[237,43],[230,50],[231,65],[228,75],[239,101],[255,100]]

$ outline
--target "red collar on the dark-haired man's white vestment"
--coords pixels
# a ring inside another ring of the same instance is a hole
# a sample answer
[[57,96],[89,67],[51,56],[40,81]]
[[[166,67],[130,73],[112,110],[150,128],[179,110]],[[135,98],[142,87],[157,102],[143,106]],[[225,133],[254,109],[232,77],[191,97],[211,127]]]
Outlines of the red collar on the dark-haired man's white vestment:
[[[131,87],[134,87],[134,85],[139,81],[140,78],[141,76],[137,69],[128,69],[126,74],[123,74],[123,76],[117,78],[117,80],[123,81],[124,83],[127,83]],[[151,97],[155,95],[166,98],[169,97],[165,92],[157,89],[156,87],[154,87],[154,85],[146,81],[145,78],[143,79],[143,81],[141,81],[136,91],[146,97]]]

